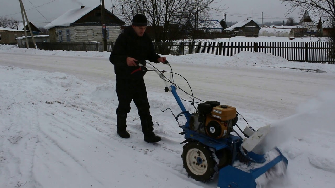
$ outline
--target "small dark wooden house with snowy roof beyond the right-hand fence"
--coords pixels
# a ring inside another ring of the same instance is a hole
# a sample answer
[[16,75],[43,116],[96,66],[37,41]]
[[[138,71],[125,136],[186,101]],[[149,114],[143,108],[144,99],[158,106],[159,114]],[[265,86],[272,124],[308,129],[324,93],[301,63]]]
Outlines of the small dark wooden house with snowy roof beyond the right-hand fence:
[[259,30],[260,26],[254,20],[249,20],[249,18],[242,20],[226,29],[223,29],[225,32],[243,32],[253,33],[255,35],[258,35]]

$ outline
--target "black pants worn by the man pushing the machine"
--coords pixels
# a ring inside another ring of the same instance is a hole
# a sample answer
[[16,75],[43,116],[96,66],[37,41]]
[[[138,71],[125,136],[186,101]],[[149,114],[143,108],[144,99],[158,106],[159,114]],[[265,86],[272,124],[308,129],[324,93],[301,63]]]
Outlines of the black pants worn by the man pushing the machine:
[[130,103],[133,100],[138,109],[143,133],[152,132],[153,123],[144,79],[127,80],[117,78],[116,93],[119,100],[119,105],[116,109],[118,129],[127,127],[127,114],[130,112]]

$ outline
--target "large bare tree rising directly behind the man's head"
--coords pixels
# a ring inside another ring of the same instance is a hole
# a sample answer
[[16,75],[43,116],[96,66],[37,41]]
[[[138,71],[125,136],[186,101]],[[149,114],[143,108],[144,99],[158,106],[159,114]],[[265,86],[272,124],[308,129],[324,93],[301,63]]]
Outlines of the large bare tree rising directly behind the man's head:
[[[199,20],[208,20],[210,11],[220,11],[211,7],[214,0],[118,0],[118,8],[124,21],[131,23],[137,13],[145,14],[153,27],[156,41],[172,41],[177,36],[192,35],[195,38]],[[125,11],[126,10],[126,11]]]

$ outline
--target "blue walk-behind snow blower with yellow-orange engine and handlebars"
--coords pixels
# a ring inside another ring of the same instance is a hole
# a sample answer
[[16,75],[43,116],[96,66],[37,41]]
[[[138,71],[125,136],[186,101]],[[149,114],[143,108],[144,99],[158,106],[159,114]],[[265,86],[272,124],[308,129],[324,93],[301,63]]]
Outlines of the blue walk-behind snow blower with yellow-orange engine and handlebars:
[[[167,61],[165,64],[170,66]],[[180,116],[186,118],[185,125],[180,125],[179,122],[178,124],[183,129],[179,134],[185,138],[180,143],[186,143],[181,157],[189,177],[209,182],[218,174],[217,188],[256,188],[261,186],[263,179],[266,182],[285,174],[288,160],[279,149],[275,147],[271,151],[265,151],[265,147],[262,147],[262,140],[270,129],[269,125],[256,131],[247,122],[248,126],[242,131],[237,125],[241,114],[237,112],[236,107],[220,104],[218,101],[198,102],[197,110],[190,113],[177,94],[176,89],[181,88],[173,82],[173,74],[177,73],[172,72],[171,66],[170,80],[163,75],[167,71],[159,71],[147,62],[138,65],[142,67],[142,71],[149,71],[147,68],[150,68],[156,72],[165,83],[165,92],[173,94],[182,111],[175,116],[170,109],[175,119],[178,121]],[[169,86],[168,82],[172,85]],[[184,92],[193,97],[193,101],[189,102],[194,106],[196,97],[193,93]],[[242,138],[234,130],[234,126],[237,126],[246,138]],[[232,132],[238,136],[231,134]]]

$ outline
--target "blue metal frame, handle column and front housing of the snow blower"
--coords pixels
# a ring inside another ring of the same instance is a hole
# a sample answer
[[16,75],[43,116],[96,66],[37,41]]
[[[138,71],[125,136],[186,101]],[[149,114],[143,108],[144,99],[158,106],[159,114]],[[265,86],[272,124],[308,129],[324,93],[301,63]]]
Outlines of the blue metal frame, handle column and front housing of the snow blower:
[[[273,159],[272,161],[268,162],[267,164],[264,164],[262,167],[251,169],[248,171],[243,171],[236,167],[231,166],[237,159],[240,158],[237,156],[237,153],[238,153],[238,150],[240,150],[243,140],[239,136],[235,136],[235,135],[230,135],[227,138],[214,139],[207,135],[191,130],[189,128],[191,114],[189,111],[186,110],[184,104],[182,103],[180,97],[178,96],[176,92],[176,87],[173,85],[170,87],[171,87],[171,92],[173,96],[175,97],[180,109],[182,110],[180,114],[184,114],[187,120],[185,125],[180,126],[183,129],[183,132],[180,134],[185,135],[184,136],[185,141],[180,144],[189,142],[190,140],[198,140],[205,146],[214,148],[216,151],[227,148],[232,152],[232,159],[231,159],[230,165],[227,165],[219,170],[219,175],[218,175],[219,177],[218,177],[218,184],[217,184],[218,188],[227,188],[227,187],[256,188],[257,187],[256,179],[262,174],[264,174],[266,171],[271,169],[273,166],[275,166],[281,161],[283,161],[284,164],[287,166],[288,160],[279,151],[277,147],[275,149],[278,151],[279,156]],[[259,160],[258,163],[262,164],[264,163],[264,161]]]

